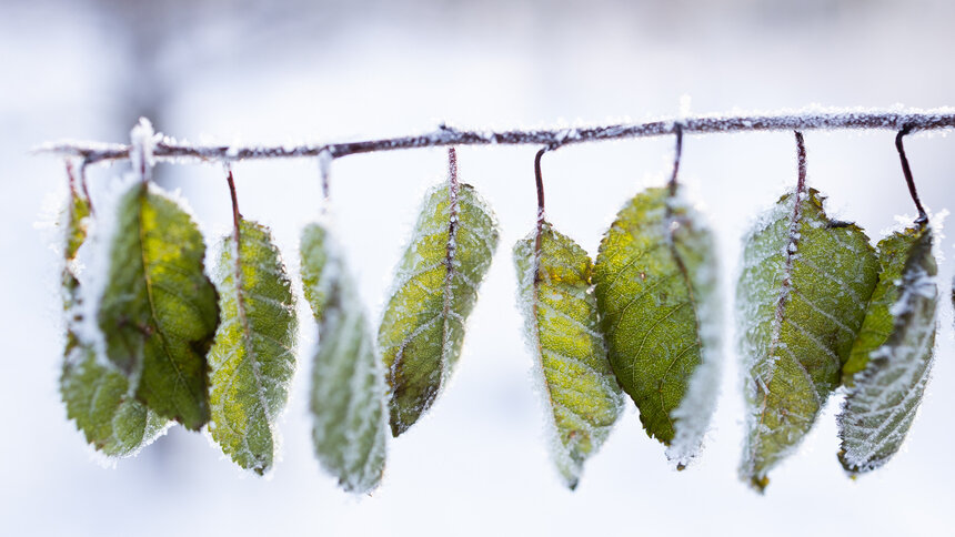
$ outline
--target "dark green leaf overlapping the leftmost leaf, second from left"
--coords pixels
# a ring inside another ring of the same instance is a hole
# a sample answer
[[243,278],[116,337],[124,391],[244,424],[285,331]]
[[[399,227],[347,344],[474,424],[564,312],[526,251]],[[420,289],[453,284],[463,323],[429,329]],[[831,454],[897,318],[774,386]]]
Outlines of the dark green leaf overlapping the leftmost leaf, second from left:
[[137,398],[197,430],[209,421],[205,353],[219,323],[195,223],[155,186],[120,199],[97,324]]

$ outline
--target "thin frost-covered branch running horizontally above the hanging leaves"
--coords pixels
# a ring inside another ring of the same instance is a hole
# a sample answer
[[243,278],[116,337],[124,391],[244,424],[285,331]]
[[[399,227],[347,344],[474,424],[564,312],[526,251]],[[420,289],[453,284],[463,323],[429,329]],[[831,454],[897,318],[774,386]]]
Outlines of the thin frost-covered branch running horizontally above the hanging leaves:
[[[164,138],[155,143],[153,156],[157,160],[163,161],[181,159],[240,161],[245,159],[319,156],[322,154],[338,159],[359,153],[448,145],[529,144],[544,145],[553,149],[574,143],[662,136],[674,134],[677,129],[682,129],[685,134],[712,134],[721,132],[834,129],[886,129],[894,131],[905,129],[908,132],[917,132],[953,126],[955,126],[955,109],[951,108],[929,111],[834,111],[775,115],[714,115],[645,123],[500,132],[468,131],[441,125],[436,131],[420,135],[302,145],[199,145]],[[49,143],[37,148],[36,151],[39,153],[78,156],[83,159],[86,163],[123,160],[130,156],[129,145],[96,142],[67,141]]]

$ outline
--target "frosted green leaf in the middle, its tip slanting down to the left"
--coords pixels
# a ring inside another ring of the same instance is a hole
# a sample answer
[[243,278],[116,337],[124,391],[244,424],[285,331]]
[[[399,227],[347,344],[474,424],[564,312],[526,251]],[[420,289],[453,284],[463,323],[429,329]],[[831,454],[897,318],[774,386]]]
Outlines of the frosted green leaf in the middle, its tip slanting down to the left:
[[448,381],[497,235],[496,217],[473,186],[441,184],[425,195],[378,333],[394,436]]

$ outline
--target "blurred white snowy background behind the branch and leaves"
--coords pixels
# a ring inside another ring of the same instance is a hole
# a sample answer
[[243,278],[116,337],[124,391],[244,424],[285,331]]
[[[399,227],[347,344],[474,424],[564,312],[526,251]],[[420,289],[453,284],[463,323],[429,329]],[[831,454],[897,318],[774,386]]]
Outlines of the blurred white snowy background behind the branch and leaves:
[[[639,4],[637,4],[639,3]],[[742,443],[737,356],[702,459],[673,472],[630,411],[575,493],[552,468],[514,306],[511,246],[532,225],[535,148],[462,148],[462,179],[499,213],[503,236],[453,383],[390,444],[373,497],[341,493],[312,455],[308,361],[281,430],[282,460],[242,474],[199,434],[173,428],[103,468],[60,404],[58,259],[49,222],[62,162],[43,141],[123,141],[145,114],[178,138],[247,143],[468,128],[605,123],[736,108],[955,105],[955,6],[945,1],[646,2],[520,0],[0,0],[0,534],[509,535],[611,531],[734,535],[931,535],[955,524],[955,345],[943,301],[937,364],[909,442],[857,482],[836,459],[834,397],[802,449],[760,497],[736,478]],[[806,133],[812,185],[877,239],[914,210],[891,132]],[[571,146],[547,154],[547,209],[594,254],[640,189],[660,184],[673,140]],[[955,140],[912,136],[925,203],[955,210]],[[795,181],[788,133],[688,136],[681,174],[721,246],[726,340],[740,237]],[[336,161],[333,197],[361,293],[376,317],[442,150]],[[98,168],[94,186],[122,170]],[[273,226],[291,265],[318,211],[314,161],[234,168],[243,213]],[[210,242],[228,230],[219,166],[162,165]],[[38,225],[38,223],[40,223]],[[952,239],[938,244],[955,255]],[[952,281],[943,262],[943,285]],[[294,268],[294,266],[293,266]],[[296,270],[296,268],[295,268]],[[946,296],[943,294],[943,296]],[[302,323],[302,349],[314,343]]]

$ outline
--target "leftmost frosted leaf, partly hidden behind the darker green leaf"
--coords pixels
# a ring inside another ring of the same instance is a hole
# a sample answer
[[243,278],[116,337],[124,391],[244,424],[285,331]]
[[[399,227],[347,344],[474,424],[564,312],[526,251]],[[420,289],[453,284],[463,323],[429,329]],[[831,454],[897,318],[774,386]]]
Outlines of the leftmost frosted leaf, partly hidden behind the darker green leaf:
[[89,202],[71,189],[64,222],[67,345],[60,375],[60,395],[67,406],[67,416],[77,423],[88,443],[105,455],[123,457],[152,442],[164,429],[167,422],[135,401],[125,377],[100,364],[93,345],[81,340],[80,282],[72,263],[87,239],[86,219],[89,215]]

